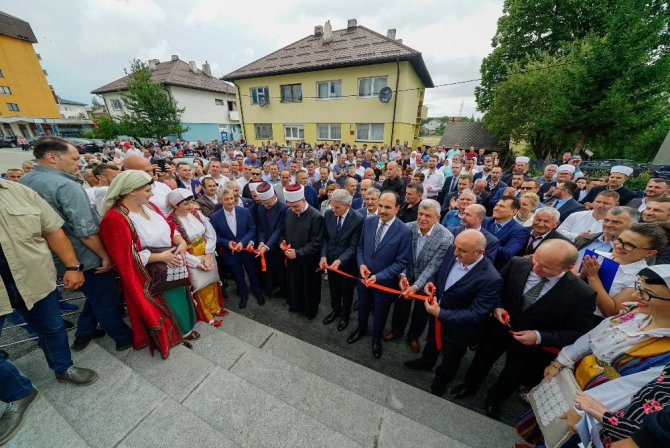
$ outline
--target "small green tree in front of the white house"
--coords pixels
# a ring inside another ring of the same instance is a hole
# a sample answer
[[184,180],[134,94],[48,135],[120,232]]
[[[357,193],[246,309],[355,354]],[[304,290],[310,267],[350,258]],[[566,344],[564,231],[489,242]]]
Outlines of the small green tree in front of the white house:
[[184,109],[151,79],[151,70],[142,61],[131,62],[127,87],[124,103],[129,112],[119,121],[121,133],[139,140],[140,137],[160,139],[188,130],[181,124]]

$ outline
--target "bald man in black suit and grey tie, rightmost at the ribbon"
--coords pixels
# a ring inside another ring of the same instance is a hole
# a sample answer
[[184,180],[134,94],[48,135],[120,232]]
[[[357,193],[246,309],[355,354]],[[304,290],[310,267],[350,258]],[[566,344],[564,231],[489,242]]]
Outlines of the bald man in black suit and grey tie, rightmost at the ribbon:
[[493,364],[507,353],[505,366],[486,397],[486,415],[500,416],[500,405],[520,385],[534,386],[555,354],[543,347],[572,344],[593,327],[596,292],[570,270],[577,249],[553,239],[532,258],[516,257],[500,273],[503,292],[486,322],[482,343],[454,398],[472,395]]

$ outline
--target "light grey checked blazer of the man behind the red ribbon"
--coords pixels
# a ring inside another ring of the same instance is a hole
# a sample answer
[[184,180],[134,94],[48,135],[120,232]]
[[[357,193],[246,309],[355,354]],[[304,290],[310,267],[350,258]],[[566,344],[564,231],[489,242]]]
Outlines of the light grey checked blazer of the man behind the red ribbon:
[[412,232],[412,254],[405,275],[410,285],[416,285],[419,291],[423,291],[423,287],[442,265],[447,249],[454,242],[454,235],[440,224],[435,224],[417,257],[416,243],[419,240],[419,224],[416,221],[410,222],[407,227]]

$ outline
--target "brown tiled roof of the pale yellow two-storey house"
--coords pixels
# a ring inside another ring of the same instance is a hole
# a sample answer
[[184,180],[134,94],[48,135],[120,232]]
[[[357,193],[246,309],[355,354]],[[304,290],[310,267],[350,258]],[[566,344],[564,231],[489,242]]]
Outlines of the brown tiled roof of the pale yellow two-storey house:
[[321,36],[312,34],[221,79],[233,81],[396,60],[409,61],[425,86],[433,87],[433,80],[420,52],[364,26],[333,31],[333,40],[329,43],[323,43]]

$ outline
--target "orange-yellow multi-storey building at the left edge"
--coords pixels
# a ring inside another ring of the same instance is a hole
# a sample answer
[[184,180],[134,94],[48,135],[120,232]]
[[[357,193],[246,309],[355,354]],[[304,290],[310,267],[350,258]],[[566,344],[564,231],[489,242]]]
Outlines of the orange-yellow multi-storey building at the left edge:
[[60,118],[35,43],[28,22],[0,12],[0,136],[50,134]]

